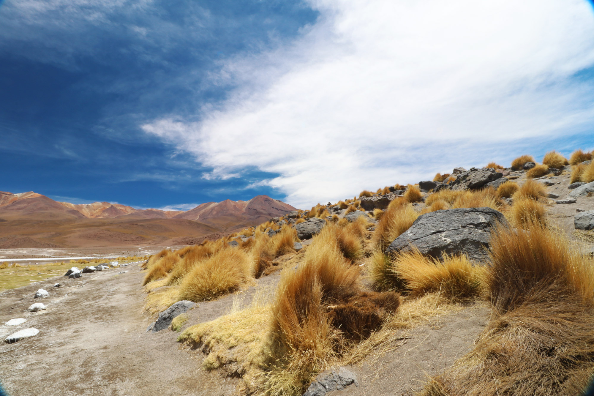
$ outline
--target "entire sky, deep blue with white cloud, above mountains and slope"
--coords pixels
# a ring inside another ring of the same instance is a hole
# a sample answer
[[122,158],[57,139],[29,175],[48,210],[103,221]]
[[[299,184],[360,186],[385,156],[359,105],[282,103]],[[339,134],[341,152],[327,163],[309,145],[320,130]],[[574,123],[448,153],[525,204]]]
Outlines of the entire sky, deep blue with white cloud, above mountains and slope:
[[307,208],[594,149],[583,0],[0,4],[4,191]]

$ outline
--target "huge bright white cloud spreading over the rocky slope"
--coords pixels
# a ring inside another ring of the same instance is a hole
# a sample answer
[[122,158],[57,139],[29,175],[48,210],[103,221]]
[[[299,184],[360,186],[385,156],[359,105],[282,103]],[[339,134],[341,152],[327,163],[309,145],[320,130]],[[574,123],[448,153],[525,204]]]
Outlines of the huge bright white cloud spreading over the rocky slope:
[[[258,168],[306,207],[453,166],[509,162],[514,142],[594,118],[594,17],[582,0],[311,0],[295,42],[229,61],[239,88],[147,133],[225,178]],[[554,148],[554,147],[551,147]],[[525,149],[523,147],[522,149]]]

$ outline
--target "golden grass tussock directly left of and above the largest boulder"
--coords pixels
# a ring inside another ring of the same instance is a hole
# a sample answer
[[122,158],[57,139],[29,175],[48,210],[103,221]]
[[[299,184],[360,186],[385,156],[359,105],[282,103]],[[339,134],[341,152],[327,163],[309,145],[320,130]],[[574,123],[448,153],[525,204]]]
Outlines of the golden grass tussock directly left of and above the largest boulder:
[[405,198],[396,198],[390,202],[372,237],[375,249],[382,252],[418,218],[419,212],[412,208]]

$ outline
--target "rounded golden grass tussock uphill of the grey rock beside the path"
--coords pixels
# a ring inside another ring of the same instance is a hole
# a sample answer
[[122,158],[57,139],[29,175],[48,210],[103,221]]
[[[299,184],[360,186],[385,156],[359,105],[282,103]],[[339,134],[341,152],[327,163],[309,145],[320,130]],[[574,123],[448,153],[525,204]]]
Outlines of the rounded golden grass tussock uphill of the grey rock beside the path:
[[230,247],[222,249],[184,276],[179,285],[179,300],[211,300],[238,290],[253,275],[251,254]]

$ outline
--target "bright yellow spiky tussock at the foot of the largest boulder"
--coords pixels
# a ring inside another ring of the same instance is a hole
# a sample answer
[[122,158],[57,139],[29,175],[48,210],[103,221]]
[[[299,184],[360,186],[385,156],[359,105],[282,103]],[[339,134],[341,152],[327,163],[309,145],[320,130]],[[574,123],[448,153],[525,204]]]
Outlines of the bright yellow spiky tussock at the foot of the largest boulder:
[[413,249],[391,257],[388,271],[399,279],[402,290],[413,297],[440,293],[451,301],[467,301],[484,294],[485,267],[474,266],[463,255],[445,255],[442,262]]

